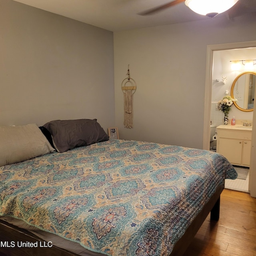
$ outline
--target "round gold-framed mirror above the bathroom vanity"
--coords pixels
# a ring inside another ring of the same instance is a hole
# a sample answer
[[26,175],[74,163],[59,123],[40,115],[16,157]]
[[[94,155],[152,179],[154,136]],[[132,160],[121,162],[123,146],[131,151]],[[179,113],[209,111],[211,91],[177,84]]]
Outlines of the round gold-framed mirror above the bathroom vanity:
[[232,86],[231,97],[236,98],[234,105],[242,111],[253,111],[256,72],[246,71],[239,74]]

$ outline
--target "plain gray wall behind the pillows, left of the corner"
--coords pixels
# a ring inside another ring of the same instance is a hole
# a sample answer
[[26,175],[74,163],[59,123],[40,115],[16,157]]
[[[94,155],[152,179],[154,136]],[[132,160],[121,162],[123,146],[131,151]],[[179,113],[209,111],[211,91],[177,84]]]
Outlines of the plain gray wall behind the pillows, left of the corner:
[[112,32],[0,0],[0,125],[114,126],[113,59]]

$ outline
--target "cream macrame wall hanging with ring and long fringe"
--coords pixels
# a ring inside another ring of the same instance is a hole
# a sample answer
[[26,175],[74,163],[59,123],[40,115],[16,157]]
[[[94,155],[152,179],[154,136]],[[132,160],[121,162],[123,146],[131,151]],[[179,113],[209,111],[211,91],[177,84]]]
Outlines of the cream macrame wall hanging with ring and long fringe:
[[122,91],[124,93],[124,127],[133,128],[133,94],[136,92],[136,82],[130,78],[128,65],[127,78],[122,82]]

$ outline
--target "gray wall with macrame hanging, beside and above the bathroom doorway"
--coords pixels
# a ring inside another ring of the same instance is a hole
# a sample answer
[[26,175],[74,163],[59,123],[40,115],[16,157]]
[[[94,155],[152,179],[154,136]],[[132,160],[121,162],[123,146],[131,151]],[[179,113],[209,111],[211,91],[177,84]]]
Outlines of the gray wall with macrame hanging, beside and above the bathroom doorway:
[[[255,17],[247,15],[114,32],[120,137],[203,148],[207,45],[256,40],[255,29]],[[128,64],[137,84],[133,129],[123,125]]]

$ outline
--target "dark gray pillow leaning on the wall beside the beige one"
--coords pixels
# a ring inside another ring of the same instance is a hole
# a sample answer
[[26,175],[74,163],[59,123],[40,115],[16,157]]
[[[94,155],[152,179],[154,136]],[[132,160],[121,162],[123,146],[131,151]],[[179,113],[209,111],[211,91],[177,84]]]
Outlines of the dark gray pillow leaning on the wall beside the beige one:
[[43,125],[58,152],[109,140],[97,119],[54,120]]

